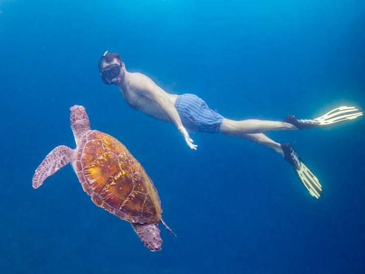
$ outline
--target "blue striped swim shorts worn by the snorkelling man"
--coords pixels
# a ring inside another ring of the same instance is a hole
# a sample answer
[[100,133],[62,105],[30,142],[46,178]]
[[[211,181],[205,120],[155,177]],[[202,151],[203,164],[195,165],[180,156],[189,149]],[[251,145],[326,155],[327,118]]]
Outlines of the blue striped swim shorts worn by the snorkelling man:
[[210,109],[207,103],[194,94],[179,95],[175,108],[184,127],[189,131],[217,133],[223,116]]

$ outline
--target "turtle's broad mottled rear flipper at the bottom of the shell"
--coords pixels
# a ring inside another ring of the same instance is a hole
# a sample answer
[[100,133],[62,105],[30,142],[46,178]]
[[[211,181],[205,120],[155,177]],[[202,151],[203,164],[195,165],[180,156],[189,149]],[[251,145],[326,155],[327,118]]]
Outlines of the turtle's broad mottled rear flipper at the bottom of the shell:
[[161,250],[160,229],[155,224],[132,224],[142,243],[151,251]]

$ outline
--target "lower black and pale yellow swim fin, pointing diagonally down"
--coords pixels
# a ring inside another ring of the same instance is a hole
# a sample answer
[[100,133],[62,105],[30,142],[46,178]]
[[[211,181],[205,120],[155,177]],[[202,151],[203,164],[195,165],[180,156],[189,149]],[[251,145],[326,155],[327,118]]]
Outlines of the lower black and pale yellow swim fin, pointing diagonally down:
[[322,186],[320,185],[317,177],[307,168],[306,165],[304,165],[299,155],[292,148],[291,144],[280,144],[280,146],[284,151],[285,160],[292,165],[294,171],[298,174],[300,180],[309,193],[318,199],[322,192]]

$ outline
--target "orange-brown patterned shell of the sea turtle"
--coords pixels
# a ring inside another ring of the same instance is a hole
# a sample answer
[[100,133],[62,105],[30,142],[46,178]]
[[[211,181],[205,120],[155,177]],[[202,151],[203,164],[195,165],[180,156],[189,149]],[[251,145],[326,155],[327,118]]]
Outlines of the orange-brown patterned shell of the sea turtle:
[[160,199],[152,180],[114,137],[97,130],[83,134],[73,168],[97,206],[131,223],[156,224],[161,220]]

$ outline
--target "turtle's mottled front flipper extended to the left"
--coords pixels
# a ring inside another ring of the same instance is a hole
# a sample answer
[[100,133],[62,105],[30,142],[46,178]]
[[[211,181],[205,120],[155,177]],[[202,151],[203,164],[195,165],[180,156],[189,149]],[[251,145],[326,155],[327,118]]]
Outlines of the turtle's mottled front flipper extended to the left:
[[35,170],[32,180],[33,188],[38,188],[48,176],[70,163],[72,157],[73,149],[66,146],[54,148]]

